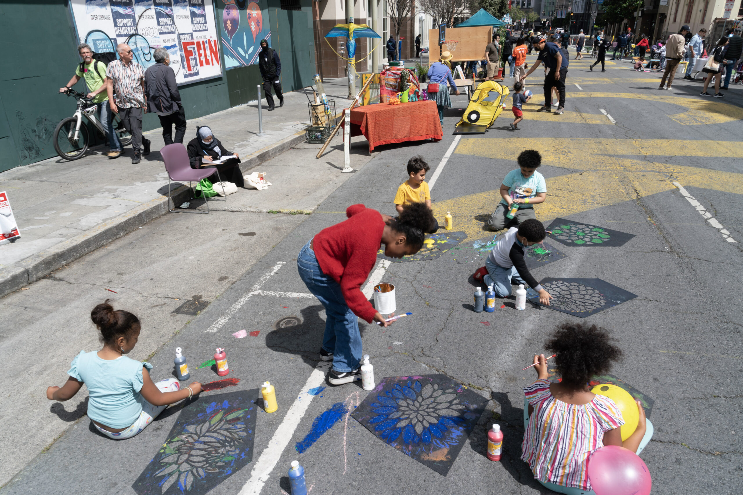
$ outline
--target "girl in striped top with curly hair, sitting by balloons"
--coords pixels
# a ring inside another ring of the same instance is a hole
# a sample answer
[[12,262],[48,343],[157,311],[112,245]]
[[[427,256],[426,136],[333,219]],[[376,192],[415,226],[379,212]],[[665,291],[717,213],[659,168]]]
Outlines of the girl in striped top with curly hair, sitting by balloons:
[[550,383],[545,355],[534,356],[537,380],[524,388],[529,417],[521,458],[545,487],[564,494],[592,494],[586,460],[604,445],[637,451],[646,432],[645,412],[637,402],[640,422],[622,442],[619,407],[608,397],[591,393],[591,377],[609,372],[611,362],[622,355],[606,330],[565,323],[545,349],[557,354],[555,366],[562,379]]

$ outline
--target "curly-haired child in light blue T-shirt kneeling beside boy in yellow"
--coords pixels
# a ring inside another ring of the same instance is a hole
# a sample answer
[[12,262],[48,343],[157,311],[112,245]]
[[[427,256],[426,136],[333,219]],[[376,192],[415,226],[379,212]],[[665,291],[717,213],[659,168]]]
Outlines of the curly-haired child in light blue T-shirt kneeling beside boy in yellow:
[[[491,230],[501,230],[513,223],[520,224],[529,218],[536,218],[533,205],[544,203],[547,197],[547,183],[545,177],[536,171],[542,165],[542,155],[539,151],[528,149],[519,154],[516,159],[519,168],[506,174],[501,184],[501,197],[503,198],[496,211],[487,220],[487,226]],[[507,218],[513,203],[518,204],[519,209],[513,218]]]

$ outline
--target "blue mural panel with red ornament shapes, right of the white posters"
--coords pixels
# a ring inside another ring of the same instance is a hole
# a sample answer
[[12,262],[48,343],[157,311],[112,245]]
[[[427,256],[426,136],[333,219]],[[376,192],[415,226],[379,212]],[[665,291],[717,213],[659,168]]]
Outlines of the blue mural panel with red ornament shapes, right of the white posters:
[[267,0],[215,0],[222,23],[224,68],[258,63],[261,40],[271,45]]

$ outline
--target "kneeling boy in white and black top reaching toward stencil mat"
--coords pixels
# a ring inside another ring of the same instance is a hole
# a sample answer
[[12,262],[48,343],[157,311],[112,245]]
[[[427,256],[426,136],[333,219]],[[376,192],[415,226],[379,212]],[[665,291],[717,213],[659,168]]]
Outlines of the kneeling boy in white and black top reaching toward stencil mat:
[[499,298],[507,298],[511,294],[511,281],[515,279],[516,283],[528,284],[539,292],[539,302],[549,305],[552,296],[533,278],[524,260],[524,248],[542,242],[546,235],[545,226],[536,218],[525,220],[518,227],[511,227],[490,252],[485,266],[478,269],[473,278],[493,286]]

